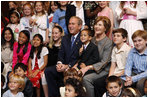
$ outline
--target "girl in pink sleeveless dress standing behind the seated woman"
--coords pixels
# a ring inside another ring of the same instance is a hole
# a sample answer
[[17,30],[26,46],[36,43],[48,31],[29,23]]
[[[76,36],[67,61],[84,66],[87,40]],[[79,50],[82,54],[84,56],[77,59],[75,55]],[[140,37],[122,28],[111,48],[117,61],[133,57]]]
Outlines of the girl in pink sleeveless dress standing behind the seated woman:
[[98,16],[106,16],[111,21],[111,28],[110,31],[106,34],[110,39],[112,39],[112,30],[113,30],[113,11],[111,8],[108,7],[108,1],[98,1],[99,6],[101,7],[102,11],[98,13]]

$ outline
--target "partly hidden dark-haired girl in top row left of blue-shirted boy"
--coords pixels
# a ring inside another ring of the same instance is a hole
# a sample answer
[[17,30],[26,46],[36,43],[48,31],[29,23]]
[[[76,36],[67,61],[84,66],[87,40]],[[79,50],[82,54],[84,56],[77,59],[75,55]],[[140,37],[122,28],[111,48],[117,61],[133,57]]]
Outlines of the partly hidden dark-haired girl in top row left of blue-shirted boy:
[[52,28],[54,26],[54,23],[52,22],[53,15],[57,9],[58,9],[58,1],[51,1],[50,8],[48,10],[48,22],[47,22],[47,28],[49,28],[49,36],[51,36]]

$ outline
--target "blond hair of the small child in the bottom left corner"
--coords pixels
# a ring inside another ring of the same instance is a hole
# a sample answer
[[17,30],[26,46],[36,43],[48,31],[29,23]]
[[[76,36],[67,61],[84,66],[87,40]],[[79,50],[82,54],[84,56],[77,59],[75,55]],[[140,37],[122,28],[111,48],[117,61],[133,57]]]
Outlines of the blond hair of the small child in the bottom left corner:
[[25,88],[25,79],[19,75],[16,75],[16,74],[12,74],[10,77],[9,77],[9,81],[10,80],[15,80],[19,83],[20,85],[20,88],[19,88],[19,92],[22,92]]

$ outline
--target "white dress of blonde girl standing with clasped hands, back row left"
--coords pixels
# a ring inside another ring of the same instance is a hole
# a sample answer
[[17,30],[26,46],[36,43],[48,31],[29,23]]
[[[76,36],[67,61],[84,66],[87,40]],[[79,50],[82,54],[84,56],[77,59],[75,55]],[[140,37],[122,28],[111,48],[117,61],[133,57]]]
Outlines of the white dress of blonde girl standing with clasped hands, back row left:
[[46,15],[42,15],[42,16],[36,16],[36,15],[33,15],[32,16],[32,19],[36,19],[36,24],[37,25],[34,25],[32,27],[32,37],[35,35],[35,34],[41,34],[42,37],[43,37],[43,41],[45,41],[45,38],[46,38],[46,29],[47,29],[47,17]]

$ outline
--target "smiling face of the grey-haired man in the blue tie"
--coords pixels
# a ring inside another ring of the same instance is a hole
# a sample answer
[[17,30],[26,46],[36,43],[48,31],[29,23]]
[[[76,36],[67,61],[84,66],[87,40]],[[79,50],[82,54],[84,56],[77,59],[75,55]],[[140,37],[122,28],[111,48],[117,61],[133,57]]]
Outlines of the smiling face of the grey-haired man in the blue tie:
[[78,22],[79,21],[77,18],[74,18],[74,17],[70,18],[69,24],[68,24],[68,29],[70,34],[75,35],[80,31],[82,25],[79,25]]

